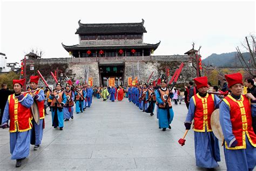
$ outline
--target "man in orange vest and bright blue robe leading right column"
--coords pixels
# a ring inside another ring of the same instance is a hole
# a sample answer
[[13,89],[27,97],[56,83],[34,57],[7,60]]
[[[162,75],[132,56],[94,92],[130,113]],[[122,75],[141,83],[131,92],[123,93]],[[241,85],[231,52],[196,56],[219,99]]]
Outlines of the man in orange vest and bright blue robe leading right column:
[[171,129],[170,124],[172,123],[172,119],[174,116],[174,112],[172,110],[171,98],[173,97],[173,93],[170,92],[168,88],[166,88],[166,79],[161,80],[161,88],[159,88],[155,93],[158,102],[158,112],[159,112],[159,129],[163,129],[166,131],[168,127]]

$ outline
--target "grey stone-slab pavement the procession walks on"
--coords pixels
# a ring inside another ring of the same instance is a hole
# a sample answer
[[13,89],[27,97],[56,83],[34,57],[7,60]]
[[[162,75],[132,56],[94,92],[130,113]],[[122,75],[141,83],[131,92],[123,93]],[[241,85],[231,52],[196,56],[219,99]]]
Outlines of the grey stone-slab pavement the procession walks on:
[[[187,109],[173,106],[172,129],[158,129],[156,115],[150,117],[132,103],[103,102],[93,98],[91,108],[65,122],[63,131],[51,127],[45,117],[42,145],[30,148],[21,168],[10,160],[9,132],[0,130],[0,170],[201,170],[194,159],[193,131],[185,146],[178,144],[185,132]],[[49,109],[48,109],[49,110]],[[47,111],[49,113],[49,111]],[[156,113],[156,111],[155,111]],[[217,169],[226,169],[223,147]]]

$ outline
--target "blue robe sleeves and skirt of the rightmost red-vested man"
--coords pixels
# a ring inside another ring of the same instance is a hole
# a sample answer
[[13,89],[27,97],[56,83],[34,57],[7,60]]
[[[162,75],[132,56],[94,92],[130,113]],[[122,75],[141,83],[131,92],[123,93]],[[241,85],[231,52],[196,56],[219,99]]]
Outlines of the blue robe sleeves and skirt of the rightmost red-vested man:
[[[252,110],[253,105],[251,106]],[[230,120],[230,108],[224,102],[220,103],[220,125],[227,144],[234,139],[232,124]],[[252,116],[255,117],[255,112]],[[256,148],[253,147],[246,137],[246,149],[226,149],[224,145],[224,154],[227,170],[253,170],[256,165]]]

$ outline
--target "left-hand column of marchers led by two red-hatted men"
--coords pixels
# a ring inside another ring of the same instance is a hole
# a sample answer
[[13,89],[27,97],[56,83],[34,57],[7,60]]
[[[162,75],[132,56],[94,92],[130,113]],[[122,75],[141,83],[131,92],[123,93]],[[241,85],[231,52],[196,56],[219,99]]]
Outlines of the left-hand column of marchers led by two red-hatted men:
[[5,104],[1,127],[9,127],[11,159],[16,160],[16,167],[21,167],[22,160],[29,156],[30,144],[34,145],[35,151],[39,149],[47,105],[52,114],[52,126],[63,130],[64,121],[73,119],[74,103],[77,114],[90,108],[92,103],[93,90],[86,83],[78,84],[72,90],[69,83],[65,87],[56,83],[52,91],[51,88],[38,88],[39,78],[30,77],[29,91],[23,91],[25,79],[13,80],[14,94],[8,96]]

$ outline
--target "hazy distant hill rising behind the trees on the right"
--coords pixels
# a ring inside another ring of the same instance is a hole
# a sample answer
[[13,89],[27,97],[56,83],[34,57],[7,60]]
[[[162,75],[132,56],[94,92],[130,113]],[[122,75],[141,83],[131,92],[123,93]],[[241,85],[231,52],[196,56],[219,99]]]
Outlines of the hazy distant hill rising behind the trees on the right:
[[[242,53],[245,56],[245,61],[250,60],[250,54],[248,52]],[[202,62],[207,66],[216,66],[216,67],[241,67],[241,62],[238,57],[235,59],[237,52],[222,53],[222,54],[211,54]]]

